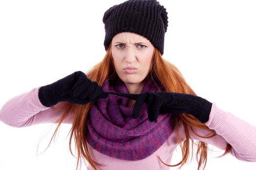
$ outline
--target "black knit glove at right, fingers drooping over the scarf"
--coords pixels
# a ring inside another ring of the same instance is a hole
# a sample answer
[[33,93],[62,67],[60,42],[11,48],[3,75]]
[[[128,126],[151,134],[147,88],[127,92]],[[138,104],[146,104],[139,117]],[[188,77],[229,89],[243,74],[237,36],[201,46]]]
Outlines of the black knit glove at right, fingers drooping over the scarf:
[[132,113],[133,118],[139,117],[143,102],[148,103],[148,119],[151,122],[157,122],[159,114],[188,113],[193,115],[202,123],[205,123],[209,120],[212,108],[211,102],[191,94],[174,92],[145,92],[139,94],[136,99]]

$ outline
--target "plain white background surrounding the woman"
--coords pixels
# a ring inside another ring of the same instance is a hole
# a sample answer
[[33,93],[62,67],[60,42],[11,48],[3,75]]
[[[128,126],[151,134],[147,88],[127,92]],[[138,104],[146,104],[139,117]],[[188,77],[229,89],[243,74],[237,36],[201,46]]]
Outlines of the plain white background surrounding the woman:
[[[0,0],[0,107],[14,96],[100,62],[105,54],[103,14],[123,1]],[[256,2],[159,2],[169,16],[163,57],[179,68],[198,96],[256,125]],[[65,140],[71,125],[63,124],[56,144],[36,156],[39,139],[46,135],[40,153],[55,127],[13,128],[0,122],[0,170],[75,170],[69,136]],[[215,156],[223,153],[216,151]],[[256,162],[212,156],[208,154],[205,170],[256,170]],[[177,148],[171,164],[180,160]],[[196,159],[182,170],[197,170]]]

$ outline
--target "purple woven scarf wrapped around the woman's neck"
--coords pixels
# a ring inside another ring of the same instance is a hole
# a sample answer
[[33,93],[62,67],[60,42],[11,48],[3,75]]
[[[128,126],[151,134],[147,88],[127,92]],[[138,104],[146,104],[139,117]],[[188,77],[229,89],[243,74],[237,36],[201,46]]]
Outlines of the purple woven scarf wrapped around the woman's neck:
[[[141,93],[164,91],[163,86],[148,79]],[[117,79],[105,79],[104,91],[129,93]],[[124,160],[140,160],[156,152],[173,132],[171,114],[161,114],[158,122],[150,122],[147,104],[142,105],[138,119],[132,118],[133,107],[128,98],[109,95],[94,103],[89,112],[87,142],[98,152]]]

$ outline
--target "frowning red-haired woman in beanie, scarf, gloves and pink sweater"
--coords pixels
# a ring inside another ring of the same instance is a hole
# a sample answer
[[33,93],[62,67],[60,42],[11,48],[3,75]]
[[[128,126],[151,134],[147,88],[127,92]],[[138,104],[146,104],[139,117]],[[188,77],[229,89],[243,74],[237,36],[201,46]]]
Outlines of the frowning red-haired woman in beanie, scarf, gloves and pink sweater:
[[164,164],[178,144],[183,158],[176,166],[182,166],[190,139],[199,141],[198,169],[206,163],[206,143],[256,161],[256,136],[248,134],[256,127],[197,97],[161,57],[167,19],[155,0],[111,7],[103,17],[104,59],[86,74],[76,71],[6,102],[1,121],[16,127],[71,123],[78,162],[84,157],[89,169],[169,169]]

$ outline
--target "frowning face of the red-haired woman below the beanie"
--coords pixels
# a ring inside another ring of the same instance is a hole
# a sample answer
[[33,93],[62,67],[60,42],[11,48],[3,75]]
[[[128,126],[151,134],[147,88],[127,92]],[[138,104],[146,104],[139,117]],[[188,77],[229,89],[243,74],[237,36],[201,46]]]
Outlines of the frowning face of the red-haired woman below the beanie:
[[111,43],[114,66],[119,78],[127,84],[141,84],[149,73],[154,46],[145,37],[119,33]]

